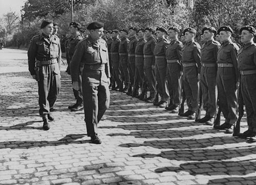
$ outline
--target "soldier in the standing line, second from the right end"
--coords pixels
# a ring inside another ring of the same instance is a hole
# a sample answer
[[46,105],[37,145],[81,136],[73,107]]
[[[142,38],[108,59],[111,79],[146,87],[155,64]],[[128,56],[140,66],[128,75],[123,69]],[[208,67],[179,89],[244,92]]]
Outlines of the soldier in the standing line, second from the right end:
[[226,129],[226,133],[233,133],[231,126],[237,120],[238,88],[238,46],[231,41],[233,30],[230,27],[221,27],[218,30],[222,45],[218,51],[217,88],[220,109],[225,122],[216,126],[216,129]]

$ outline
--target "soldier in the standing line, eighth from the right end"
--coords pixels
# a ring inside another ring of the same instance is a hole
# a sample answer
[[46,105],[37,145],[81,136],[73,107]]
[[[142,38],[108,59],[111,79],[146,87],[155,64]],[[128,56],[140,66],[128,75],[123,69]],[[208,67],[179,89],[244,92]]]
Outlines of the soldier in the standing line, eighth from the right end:
[[[135,48],[135,82],[134,82],[134,89],[133,89],[133,97],[138,96],[138,87],[140,86],[141,91],[143,91],[143,81],[145,80],[144,75],[144,69],[143,69],[143,47],[145,45],[145,31],[143,29],[138,30],[138,38],[139,41],[137,42],[136,48]],[[144,86],[146,85],[146,82],[144,82]]]

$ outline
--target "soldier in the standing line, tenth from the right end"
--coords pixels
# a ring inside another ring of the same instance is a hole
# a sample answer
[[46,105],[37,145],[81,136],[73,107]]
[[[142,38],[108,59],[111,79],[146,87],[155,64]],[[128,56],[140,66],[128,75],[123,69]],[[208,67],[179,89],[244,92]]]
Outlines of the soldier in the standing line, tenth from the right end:
[[[120,30],[120,43],[119,43],[119,62],[121,69],[121,85],[119,90],[126,93],[128,91],[130,85],[130,74],[128,69],[128,44],[129,39],[127,39],[128,31],[125,29]],[[124,88],[123,88],[123,80],[124,80]]]

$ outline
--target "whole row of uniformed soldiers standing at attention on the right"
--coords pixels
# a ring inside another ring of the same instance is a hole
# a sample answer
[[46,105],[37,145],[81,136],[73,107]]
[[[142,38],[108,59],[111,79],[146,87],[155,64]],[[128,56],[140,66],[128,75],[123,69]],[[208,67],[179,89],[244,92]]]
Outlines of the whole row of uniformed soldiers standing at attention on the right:
[[[239,136],[255,136],[256,45],[253,38],[256,32],[253,27],[241,28],[244,45],[240,49],[231,41],[232,29],[226,26],[218,32],[213,27],[204,28],[202,48],[195,42],[197,32],[193,28],[184,30],[183,43],[178,40],[179,29],[175,27],[170,27],[168,32],[157,28],[157,39],[152,28],[129,30],[106,31],[112,90],[154,103],[171,113],[178,113],[183,90],[188,110],[180,116],[187,119],[196,119],[201,91],[206,114],[196,121],[214,125],[218,100],[225,122],[215,128],[231,134],[237,121],[236,92],[240,82],[248,130]],[[214,40],[216,34],[222,44]],[[147,90],[149,97],[146,97]]]

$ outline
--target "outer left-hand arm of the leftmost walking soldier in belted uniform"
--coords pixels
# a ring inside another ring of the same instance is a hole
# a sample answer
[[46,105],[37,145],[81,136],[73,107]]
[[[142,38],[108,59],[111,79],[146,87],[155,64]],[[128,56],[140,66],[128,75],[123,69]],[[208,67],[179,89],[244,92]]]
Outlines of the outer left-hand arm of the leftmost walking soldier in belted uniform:
[[29,65],[29,72],[31,75],[35,75],[35,57],[36,57],[36,41],[32,39],[29,44],[28,48],[28,65]]

